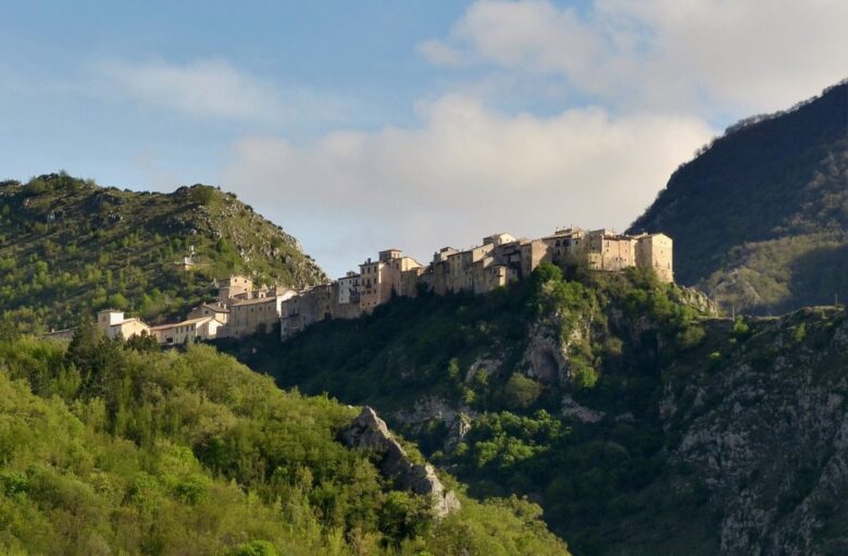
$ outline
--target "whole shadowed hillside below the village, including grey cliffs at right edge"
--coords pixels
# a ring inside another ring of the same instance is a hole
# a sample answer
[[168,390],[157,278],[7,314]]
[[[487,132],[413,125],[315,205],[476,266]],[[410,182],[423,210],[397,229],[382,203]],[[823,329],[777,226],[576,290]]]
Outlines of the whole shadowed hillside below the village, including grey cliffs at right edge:
[[576,555],[836,554],[847,331],[843,310],[731,321],[650,274],[543,264],[221,347],[374,405],[474,495],[538,501]]

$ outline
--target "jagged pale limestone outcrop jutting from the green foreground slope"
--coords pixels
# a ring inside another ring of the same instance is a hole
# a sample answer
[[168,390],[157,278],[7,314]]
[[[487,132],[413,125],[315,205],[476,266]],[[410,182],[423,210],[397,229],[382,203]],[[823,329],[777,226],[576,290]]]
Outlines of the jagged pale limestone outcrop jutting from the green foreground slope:
[[386,422],[372,408],[362,408],[359,417],[341,431],[339,440],[350,448],[367,449],[376,454],[379,458],[379,472],[394,481],[398,489],[429,496],[437,517],[445,517],[460,508],[459,498],[453,491],[445,489],[433,466],[413,462],[391,435]]

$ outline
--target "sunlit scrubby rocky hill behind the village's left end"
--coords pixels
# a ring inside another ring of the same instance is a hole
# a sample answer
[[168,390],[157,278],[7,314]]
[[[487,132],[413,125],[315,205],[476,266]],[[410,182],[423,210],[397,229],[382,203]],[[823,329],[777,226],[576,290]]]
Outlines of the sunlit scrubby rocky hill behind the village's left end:
[[[197,265],[185,272],[176,262],[191,247]],[[183,314],[236,271],[291,286],[323,277],[291,236],[214,187],[0,182],[0,321],[18,330],[71,326],[105,307],[150,321]]]

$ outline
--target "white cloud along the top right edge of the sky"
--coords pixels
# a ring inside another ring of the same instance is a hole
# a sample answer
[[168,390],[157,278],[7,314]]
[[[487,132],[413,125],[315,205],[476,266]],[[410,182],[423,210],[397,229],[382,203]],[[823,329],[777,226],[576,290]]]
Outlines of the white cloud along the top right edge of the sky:
[[844,0],[595,0],[582,14],[481,0],[420,50],[436,64],[563,75],[626,109],[775,110],[846,76],[846,21]]

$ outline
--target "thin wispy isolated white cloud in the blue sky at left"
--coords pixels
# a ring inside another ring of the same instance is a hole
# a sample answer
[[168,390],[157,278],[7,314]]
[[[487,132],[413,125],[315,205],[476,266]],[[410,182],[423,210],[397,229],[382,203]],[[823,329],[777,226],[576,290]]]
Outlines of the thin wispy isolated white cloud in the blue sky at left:
[[108,61],[96,73],[124,97],[196,118],[278,123],[338,118],[344,103],[305,89],[286,89],[223,60],[178,65]]

